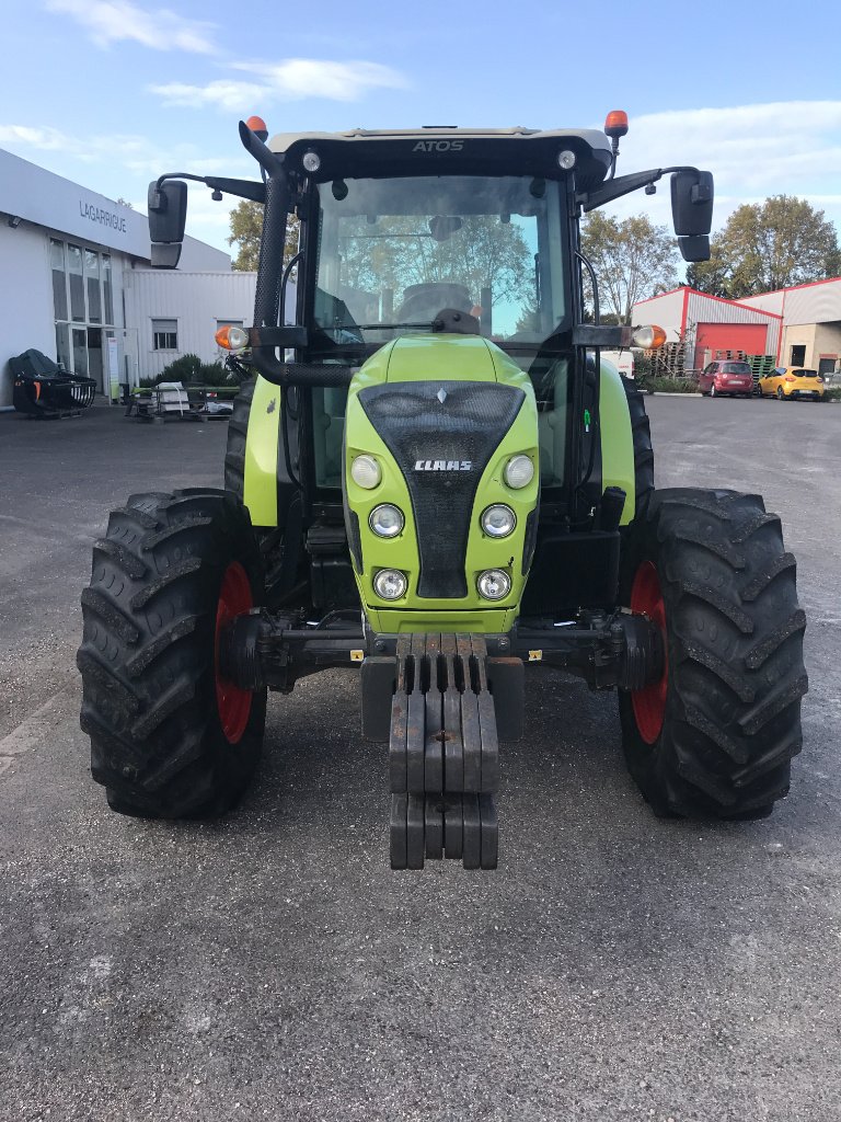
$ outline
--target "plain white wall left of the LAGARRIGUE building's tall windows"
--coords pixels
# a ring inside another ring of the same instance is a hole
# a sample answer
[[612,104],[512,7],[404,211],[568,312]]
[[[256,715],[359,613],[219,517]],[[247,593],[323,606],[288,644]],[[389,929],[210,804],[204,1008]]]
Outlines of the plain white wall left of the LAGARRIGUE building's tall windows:
[[10,358],[30,347],[55,358],[48,245],[40,227],[12,230],[0,215],[0,407],[11,405]]

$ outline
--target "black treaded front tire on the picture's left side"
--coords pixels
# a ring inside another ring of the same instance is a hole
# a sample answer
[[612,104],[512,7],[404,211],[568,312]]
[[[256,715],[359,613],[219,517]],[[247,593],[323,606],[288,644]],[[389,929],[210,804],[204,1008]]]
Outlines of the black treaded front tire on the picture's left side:
[[264,603],[248,511],[209,488],[132,495],[93,548],[76,656],[81,724],[91,737],[91,773],[114,810],[218,815],[251,779],[266,691],[240,698],[243,711],[232,720],[216,688],[216,615],[231,572],[240,587],[247,580],[255,606]]

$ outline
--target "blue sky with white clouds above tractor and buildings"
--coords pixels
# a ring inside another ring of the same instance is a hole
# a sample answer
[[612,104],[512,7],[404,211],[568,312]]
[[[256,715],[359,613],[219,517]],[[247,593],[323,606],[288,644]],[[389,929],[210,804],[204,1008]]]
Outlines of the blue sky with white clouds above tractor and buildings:
[[[146,212],[163,172],[257,178],[237,123],[269,132],[459,125],[601,128],[618,174],[715,176],[713,228],[806,199],[841,237],[841,4],[599,7],[536,0],[3,0],[0,148]],[[229,211],[191,188],[187,233],[230,250]],[[611,204],[669,224],[668,184]]]

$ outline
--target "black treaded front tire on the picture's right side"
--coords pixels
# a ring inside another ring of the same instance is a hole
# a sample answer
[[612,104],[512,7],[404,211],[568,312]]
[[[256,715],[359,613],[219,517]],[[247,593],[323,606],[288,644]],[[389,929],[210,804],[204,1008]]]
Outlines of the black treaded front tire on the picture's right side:
[[629,771],[658,815],[765,817],[788,792],[808,686],[779,518],[758,495],[656,491],[623,558],[623,605],[640,608],[632,588],[650,579],[647,564],[662,591],[666,669],[659,699],[620,692]]

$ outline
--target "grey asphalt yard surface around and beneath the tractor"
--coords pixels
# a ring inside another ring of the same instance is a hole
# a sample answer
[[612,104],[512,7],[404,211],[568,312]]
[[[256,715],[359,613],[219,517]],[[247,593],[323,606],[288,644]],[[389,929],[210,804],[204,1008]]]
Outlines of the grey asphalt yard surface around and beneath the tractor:
[[0,415],[0,1120],[841,1114],[841,406],[648,399],[659,486],[760,490],[798,558],[811,691],[767,820],[655,819],[616,699],[528,675],[501,866],[388,868],[351,671],[270,699],[216,824],[111,813],[74,652],[135,490],[219,484],[224,423]]

